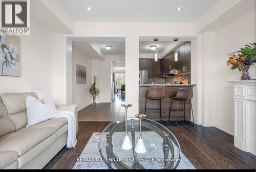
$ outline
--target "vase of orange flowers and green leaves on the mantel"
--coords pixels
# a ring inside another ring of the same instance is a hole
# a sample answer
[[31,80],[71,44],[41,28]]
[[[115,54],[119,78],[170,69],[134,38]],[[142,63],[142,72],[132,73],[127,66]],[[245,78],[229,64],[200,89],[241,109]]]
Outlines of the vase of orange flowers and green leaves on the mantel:
[[229,54],[227,66],[231,66],[231,70],[242,71],[240,80],[251,80],[248,70],[254,62],[256,62],[256,42],[245,45],[240,51]]

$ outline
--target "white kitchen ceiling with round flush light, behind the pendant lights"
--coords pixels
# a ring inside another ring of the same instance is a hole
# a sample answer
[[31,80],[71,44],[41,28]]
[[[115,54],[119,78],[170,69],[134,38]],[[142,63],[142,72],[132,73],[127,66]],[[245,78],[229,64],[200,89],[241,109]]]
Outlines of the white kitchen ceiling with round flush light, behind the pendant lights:
[[161,53],[172,41],[139,41],[139,53],[154,53],[150,46],[157,45],[158,53]]

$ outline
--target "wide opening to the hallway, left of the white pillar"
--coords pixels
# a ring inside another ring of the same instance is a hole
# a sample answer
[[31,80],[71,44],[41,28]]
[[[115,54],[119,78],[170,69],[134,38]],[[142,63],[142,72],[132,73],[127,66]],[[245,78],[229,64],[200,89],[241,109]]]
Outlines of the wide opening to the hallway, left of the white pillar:
[[[67,47],[67,70],[70,72],[67,81],[71,83],[67,91],[71,103],[78,104],[78,121],[115,121],[124,118],[125,110],[121,103],[125,97],[121,90],[125,84],[125,38],[69,37]],[[86,74],[83,83],[77,82],[78,65],[84,68]],[[115,73],[120,73],[120,76],[115,78]],[[115,81],[120,94],[114,93]],[[92,83],[99,90],[96,104],[90,91]]]

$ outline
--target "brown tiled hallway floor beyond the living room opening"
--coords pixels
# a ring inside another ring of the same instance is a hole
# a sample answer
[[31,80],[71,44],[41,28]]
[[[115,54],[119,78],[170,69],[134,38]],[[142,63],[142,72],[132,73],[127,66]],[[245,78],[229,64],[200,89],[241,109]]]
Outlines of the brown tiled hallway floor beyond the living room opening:
[[125,109],[121,106],[125,95],[118,91],[111,103],[90,104],[78,111],[78,121],[116,121],[125,117]]

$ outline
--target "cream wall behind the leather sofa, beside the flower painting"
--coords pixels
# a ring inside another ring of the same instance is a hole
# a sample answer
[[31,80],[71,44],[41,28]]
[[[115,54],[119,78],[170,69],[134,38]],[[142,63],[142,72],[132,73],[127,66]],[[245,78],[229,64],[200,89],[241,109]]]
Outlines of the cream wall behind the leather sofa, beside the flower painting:
[[31,20],[30,35],[20,37],[21,76],[0,76],[0,93],[44,90],[54,97],[53,39]]

